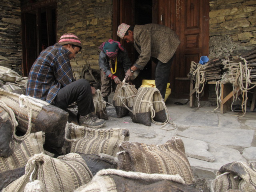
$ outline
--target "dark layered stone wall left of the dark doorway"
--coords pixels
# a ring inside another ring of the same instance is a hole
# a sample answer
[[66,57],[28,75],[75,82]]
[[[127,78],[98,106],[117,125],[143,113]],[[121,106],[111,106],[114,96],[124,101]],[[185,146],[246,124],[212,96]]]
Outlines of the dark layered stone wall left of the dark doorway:
[[20,0],[1,0],[0,65],[22,75]]

